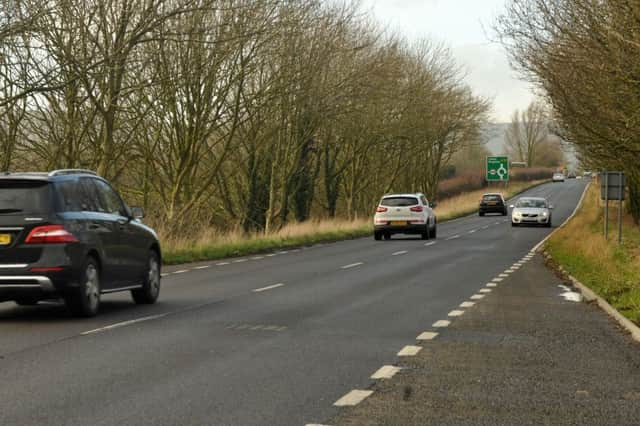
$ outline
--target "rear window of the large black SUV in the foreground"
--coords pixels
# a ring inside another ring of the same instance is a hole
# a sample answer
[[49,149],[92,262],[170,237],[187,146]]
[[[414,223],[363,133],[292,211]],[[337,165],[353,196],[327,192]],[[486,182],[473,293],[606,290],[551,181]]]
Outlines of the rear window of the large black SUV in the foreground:
[[46,213],[49,191],[45,181],[0,179],[0,215]]

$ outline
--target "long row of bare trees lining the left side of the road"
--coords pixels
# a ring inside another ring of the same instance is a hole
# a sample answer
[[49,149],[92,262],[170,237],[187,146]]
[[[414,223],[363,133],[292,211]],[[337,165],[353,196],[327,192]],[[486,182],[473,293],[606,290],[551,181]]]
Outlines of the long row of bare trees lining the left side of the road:
[[443,46],[319,0],[2,0],[0,168],[82,167],[167,232],[437,192],[488,103]]

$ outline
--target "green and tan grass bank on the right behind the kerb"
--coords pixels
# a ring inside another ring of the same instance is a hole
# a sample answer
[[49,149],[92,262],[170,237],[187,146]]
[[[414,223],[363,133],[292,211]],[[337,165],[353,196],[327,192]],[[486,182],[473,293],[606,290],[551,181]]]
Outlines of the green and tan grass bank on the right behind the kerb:
[[581,209],[549,239],[546,248],[577,280],[640,325],[640,228],[625,216],[623,242],[619,245],[617,208],[610,206],[609,213],[610,233],[606,241],[598,185],[591,185]]

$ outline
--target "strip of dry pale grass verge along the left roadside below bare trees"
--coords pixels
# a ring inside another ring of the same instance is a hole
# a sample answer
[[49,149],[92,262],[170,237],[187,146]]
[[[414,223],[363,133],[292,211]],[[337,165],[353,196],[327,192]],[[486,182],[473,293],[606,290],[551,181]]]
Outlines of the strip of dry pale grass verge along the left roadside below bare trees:
[[[543,182],[518,182],[502,192],[506,197],[512,197]],[[484,192],[486,192],[486,189],[442,200],[436,208],[438,221],[455,219],[477,211],[478,201]],[[163,259],[166,265],[175,265],[360,238],[372,233],[373,228],[370,218],[355,221],[321,220],[292,223],[268,235],[256,234],[247,236],[237,232],[220,234],[209,230],[195,240],[186,238],[163,239]]]

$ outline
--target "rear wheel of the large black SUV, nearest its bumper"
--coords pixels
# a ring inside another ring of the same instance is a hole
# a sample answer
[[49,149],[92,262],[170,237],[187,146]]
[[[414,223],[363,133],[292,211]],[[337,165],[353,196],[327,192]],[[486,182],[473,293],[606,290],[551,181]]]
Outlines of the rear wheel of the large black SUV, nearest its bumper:
[[100,308],[100,268],[91,256],[82,267],[82,276],[78,287],[69,289],[64,301],[74,316],[92,317]]

